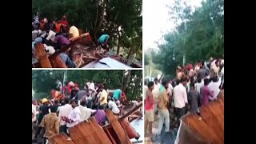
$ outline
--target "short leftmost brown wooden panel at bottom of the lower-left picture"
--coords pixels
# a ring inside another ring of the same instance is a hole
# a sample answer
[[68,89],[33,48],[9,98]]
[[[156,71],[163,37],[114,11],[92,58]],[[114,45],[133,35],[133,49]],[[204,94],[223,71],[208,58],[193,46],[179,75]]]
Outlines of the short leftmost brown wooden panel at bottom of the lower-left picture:
[[67,139],[68,137],[66,136],[66,134],[61,133],[61,134],[54,135],[48,140],[51,144],[74,144],[73,141],[68,141]]

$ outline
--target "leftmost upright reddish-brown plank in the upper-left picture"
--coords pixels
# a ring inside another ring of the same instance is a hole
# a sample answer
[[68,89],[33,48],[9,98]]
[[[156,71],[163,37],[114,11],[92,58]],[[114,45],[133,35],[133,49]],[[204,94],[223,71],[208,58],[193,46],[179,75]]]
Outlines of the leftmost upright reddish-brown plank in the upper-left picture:
[[41,43],[35,43],[34,49],[34,55],[36,58],[38,58],[42,68],[52,68],[43,45]]

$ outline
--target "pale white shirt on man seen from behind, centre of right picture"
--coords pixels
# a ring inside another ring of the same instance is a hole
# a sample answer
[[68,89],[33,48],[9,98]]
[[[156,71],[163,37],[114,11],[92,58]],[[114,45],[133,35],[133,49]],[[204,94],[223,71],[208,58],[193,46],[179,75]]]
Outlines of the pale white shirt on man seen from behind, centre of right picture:
[[174,107],[183,108],[187,103],[186,88],[182,83],[174,87]]

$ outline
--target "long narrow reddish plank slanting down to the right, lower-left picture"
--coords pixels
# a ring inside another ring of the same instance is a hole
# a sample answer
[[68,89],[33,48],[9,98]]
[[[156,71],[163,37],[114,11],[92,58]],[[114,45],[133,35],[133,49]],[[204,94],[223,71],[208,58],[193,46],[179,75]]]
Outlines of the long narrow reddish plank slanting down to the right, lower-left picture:
[[111,110],[105,110],[106,117],[108,118],[110,125],[113,127],[116,134],[118,134],[118,138],[122,144],[131,144],[126,131],[123,130],[121,124],[118,122],[118,119],[114,117],[114,114]]

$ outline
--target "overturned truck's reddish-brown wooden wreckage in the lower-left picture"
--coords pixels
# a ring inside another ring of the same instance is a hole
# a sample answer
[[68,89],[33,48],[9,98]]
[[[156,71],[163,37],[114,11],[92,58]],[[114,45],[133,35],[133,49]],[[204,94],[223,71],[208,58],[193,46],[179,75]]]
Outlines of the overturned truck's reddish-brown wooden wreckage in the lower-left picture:
[[106,111],[106,116],[110,124],[99,126],[94,117],[79,123],[77,126],[69,128],[70,138],[61,133],[49,138],[51,144],[131,144],[130,139],[135,135],[131,134],[125,119],[142,107],[142,103],[134,107],[121,118],[116,118],[110,110]]

